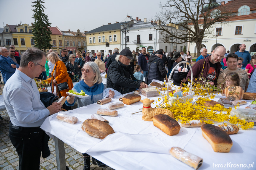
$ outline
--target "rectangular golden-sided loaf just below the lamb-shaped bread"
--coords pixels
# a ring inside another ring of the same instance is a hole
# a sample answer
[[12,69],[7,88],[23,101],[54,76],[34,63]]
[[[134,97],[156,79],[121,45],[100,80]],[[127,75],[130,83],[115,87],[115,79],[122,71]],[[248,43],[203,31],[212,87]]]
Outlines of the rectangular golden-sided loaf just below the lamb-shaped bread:
[[173,136],[179,133],[179,123],[166,114],[158,114],[153,117],[154,126],[161,129],[167,135]]

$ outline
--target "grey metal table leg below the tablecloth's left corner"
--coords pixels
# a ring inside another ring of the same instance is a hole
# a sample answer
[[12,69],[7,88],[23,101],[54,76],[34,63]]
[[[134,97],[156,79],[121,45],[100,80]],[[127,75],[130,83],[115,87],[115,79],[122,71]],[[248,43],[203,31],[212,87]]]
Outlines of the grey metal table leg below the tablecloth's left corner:
[[66,159],[65,159],[65,149],[64,142],[54,136],[55,151],[56,151],[56,162],[58,170],[66,170]]

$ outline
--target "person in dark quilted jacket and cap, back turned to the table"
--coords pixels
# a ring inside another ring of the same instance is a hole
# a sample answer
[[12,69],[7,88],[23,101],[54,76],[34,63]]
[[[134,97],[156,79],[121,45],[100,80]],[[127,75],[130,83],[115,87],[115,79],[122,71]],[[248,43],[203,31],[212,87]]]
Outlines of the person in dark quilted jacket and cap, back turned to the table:
[[163,82],[163,78],[166,77],[166,71],[163,64],[163,51],[156,51],[154,56],[151,56],[149,62],[147,63],[148,76],[146,78],[146,83],[150,84],[153,79]]

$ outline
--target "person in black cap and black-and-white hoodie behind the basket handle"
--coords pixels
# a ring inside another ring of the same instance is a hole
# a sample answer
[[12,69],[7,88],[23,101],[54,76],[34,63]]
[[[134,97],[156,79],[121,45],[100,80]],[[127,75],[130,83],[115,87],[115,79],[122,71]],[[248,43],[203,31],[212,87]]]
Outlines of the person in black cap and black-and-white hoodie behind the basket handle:
[[[178,65],[181,61],[185,61],[181,54],[179,52],[176,52],[173,54],[173,58],[171,60],[174,60],[175,63],[173,63],[172,69],[175,68],[175,71],[172,73],[171,78],[173,79],[173,84],[180,86],[181,83],[188,83],[186,78],[187,78],[187,73],[190,70],[190,68],[187,66],[187,64],[182,63]],[[177,66],[178,65],[178,66]],[[187,72],[181,72],[179,71],[179,67],[181,68],[181,71],[183,68],[187,68]]]

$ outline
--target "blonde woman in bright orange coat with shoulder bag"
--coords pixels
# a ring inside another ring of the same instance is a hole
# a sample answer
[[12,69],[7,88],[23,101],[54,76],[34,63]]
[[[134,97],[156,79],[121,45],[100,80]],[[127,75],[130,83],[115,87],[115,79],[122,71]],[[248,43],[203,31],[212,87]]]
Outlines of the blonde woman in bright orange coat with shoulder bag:
[[[47,80],[48,83],[52,81],[52,78],[53,78],[54,84],[68,82],[69,89],[58,92],[58,95],[60,98],[62,96],[67,97],[68,95],[66,94],[66,92],[69,92],[69,90],[71,90],[74,87],[74,85],[72,83],[71,78],[69,77],[66,65],[61,61],[60,57],[57,56],[54,52],[48,54],[47,58],[49,59],[49,61],[51,61],[54,64],[52,77]],[[71,107],[66,106],[66,104],[64,103],[63,109],[70,110]]]

